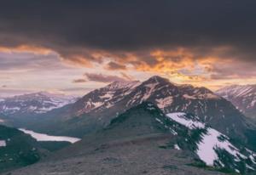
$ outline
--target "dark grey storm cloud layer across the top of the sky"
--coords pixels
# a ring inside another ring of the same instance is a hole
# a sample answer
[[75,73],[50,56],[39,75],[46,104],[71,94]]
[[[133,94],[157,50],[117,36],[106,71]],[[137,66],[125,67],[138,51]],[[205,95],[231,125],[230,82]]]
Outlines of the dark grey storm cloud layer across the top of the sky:
[[255,8],[256,1],[238,0],[1,1],[0,45],[32,44],[86,59],[96,59],[91,49],[201,47],[203,53],[229,45],[246,55],[236,59],[252,61]]

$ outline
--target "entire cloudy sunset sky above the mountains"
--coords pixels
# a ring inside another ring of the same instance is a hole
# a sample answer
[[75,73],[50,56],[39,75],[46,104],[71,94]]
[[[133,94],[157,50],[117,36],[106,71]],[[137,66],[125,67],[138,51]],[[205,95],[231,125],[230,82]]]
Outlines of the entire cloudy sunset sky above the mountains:
[[3,0],[0,97],[114,81],[256,83],[256,2]]

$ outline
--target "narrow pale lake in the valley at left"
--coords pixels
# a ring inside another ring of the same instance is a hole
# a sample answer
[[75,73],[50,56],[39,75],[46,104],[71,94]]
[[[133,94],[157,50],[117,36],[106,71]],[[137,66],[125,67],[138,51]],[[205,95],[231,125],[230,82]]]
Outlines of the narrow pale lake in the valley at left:
[[24,128],[20,128],[19,130],[22,131],[23,133],[27,133],[31,135],[32,138],[35,138],[38,141],[56,141],[56,142],[66,141],[73,144],[80,140],[80,138],[72,138],[67,136],[50,136],[48,134],[36,133],[36,132],[33,132],[32,130],[26,130]]

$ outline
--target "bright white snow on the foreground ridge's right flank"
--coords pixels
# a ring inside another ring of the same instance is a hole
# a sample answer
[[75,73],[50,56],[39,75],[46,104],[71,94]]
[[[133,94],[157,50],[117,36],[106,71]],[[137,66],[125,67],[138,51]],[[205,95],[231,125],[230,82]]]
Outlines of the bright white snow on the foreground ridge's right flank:
[[[207,129],[207,133],[203,133],[201,135],[201,141],[197,143],[198,149],[196,150],[196,154],[202,161],[206,162],[208,166],[213,166],[214,161],[220,162],[216,150],[227,151],[230,155],[235,157],[236,161],[243,161],[250,158],[253,164],[255,164],[252,150],[247,150],[247,153],[250,154],[249,156],[241,154],[240,150],[230,143],[230,138],[211,127],[206,127],[206,125],[201,121],[198,121],[197,118],[195,118],[195,120],[187,118],[186,114],[182,112],[170,113],[166,116],[191,130],[197,128]],[[247,168],[252,169],[251,167]]]

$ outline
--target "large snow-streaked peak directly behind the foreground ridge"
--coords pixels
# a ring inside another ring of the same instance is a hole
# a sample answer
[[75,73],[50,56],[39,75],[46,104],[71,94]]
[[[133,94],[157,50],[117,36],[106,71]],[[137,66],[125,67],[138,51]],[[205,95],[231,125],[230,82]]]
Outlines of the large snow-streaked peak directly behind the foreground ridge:
[[145,82],[113,82],[84,95],[74,104],[49,111],[35,122],[27,122],[25,127],[81,137],[107,126],[117,114],[143,101],[156,104],[164,113],[194,114],[231,138],[236,135],[245,142],[249,140],[244,134],[249,128],[247,121],[229,101],[207,88],[177,85],[160,76]]

